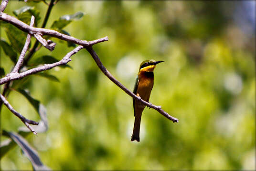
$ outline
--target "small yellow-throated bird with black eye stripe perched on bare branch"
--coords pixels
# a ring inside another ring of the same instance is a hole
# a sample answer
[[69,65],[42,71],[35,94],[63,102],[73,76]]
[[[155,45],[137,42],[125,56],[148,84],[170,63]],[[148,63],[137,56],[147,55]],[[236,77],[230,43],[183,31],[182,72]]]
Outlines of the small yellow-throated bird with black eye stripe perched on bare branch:
[[[154,69],[157,64],[164,61],[155,61],[153,59],[143,61],[139,66],[139,73],[136,77],[133,93],[140,96],[141,99],[149,102],[149,96],[154,85]],[[133,110],[134,110],[134,127],[131,136],[131,141],[136,140],[139,142],[139,127],[142,111],[145,105],[139,101],[133,99]]]

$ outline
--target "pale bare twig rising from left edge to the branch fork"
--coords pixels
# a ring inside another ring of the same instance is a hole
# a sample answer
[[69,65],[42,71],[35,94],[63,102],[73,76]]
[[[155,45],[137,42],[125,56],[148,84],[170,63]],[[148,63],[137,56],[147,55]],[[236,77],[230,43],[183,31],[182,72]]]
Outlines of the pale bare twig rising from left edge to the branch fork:
[[43,66],[38,66],[32,69],[29,69],[27,71],[24,71],[22,73],[9,73],[7,74],[5,77],[0,79],[0,85],[7,83],[11,80],[17,80],[17,79],[21,79],[25,76],[29,76],[32,74],[36,74],[45,70],[49,70],[52,69],[55,66],[60,66],[60,65],[65,65],[67,64],[69,61],[71,61],[70,57],[74,54],[76,54],[79,50],[81,50],[82,48],[84,48],[83,46],[78,46],[76,47],[74,50],[72,50],[71,52],[69,52],[65,57],[63,57],[60,61],[55,62],[53,64],[44,64]]

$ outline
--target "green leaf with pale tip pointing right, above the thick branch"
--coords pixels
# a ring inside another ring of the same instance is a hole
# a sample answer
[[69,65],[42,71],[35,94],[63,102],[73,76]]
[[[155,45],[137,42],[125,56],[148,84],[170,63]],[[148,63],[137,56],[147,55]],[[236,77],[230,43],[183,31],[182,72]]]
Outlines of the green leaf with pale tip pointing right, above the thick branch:
[[60,17],[60,19],[55,20],[51,26],[53,29],[61,30],[65,26],[67,26],[71,21],[79,20],[84,16],[83,12],[76,12],[73,15],[64,15]]

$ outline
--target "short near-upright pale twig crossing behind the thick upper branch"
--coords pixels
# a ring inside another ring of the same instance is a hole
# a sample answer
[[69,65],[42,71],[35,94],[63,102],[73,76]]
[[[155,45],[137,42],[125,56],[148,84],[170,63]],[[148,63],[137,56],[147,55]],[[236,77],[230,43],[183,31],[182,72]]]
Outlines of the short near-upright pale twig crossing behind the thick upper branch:
[[[30,26],[33,26],[34,22],[35,22],[35,17],[31,16]],[[25,42],[25,45],[24,45],[24,47],[23,47],[23,49],[21,51],[21,55],[20,55],[20,57],[18,59],[18,62],[14,66],[13,70],[11,71],[12,73],[19,72],[19,69],[22,66],[25,54],[26,54],[26,52],[28,50],[28,47],[29,47],[29,44],[30,44],[30,40],[31,40],[31,35],[28,34],[26,42]]]

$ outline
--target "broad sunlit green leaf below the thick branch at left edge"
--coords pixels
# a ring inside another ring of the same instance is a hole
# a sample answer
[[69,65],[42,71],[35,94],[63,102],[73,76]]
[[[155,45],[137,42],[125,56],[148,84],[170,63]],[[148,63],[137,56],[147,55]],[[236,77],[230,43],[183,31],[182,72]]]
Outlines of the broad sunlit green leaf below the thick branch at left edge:
[[20,54],[25,44],[27,34],[9,23],[1,22],[0,24],[11,42],[12,49]]

